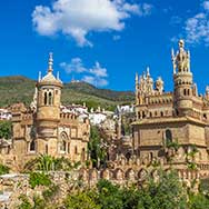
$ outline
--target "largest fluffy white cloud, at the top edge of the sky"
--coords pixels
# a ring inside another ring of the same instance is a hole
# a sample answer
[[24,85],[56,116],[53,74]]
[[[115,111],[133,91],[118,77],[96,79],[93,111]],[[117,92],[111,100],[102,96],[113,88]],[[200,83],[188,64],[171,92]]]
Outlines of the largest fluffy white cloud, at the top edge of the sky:
[[92,46],[91,31],[121,31],[131,14],[148,16],[152,6],[127,0],[56,0],[51,7],[37,6],[32,22],[41,36],[59,32],[73,38],[80,47]]

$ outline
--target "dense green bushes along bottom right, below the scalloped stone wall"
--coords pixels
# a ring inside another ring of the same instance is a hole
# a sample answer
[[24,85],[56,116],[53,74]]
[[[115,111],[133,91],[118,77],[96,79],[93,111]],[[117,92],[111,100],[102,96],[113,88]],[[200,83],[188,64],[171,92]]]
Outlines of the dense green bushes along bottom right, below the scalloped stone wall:
[[187,191],[175,171],[159,171],[159,181],[149,179],[146,187],[119,187],[100,180],[96,189],[69,193],[69,209],[206,209],[209,199]]

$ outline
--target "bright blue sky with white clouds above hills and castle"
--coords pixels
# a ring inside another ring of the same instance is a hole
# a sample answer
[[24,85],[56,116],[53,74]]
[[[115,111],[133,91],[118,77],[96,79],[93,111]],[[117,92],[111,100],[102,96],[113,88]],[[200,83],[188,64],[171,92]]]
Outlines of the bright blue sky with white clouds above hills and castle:
[[149,66],[172,90],[170,50],[183,38],[199,91],[209,84],[209,1],[7,0],[0,20],[0,76],[37,79],[52,51],[64,82],[133,90]]

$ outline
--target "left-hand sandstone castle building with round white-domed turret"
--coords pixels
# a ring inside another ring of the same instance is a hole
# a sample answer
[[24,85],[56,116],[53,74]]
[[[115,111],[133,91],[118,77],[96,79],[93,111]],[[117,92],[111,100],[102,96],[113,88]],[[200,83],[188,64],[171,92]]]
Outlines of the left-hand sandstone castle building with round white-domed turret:
[[12,146],[7,148],[2,158],[14,170],[41,153],[72,161],[87,160],[89,119],[61,109],[62,81],[59,73],[57,78],[53,76],[52,66],[50,53],[48,73],[43,78],[39,74],[30,108],[23,103],[11,107]]

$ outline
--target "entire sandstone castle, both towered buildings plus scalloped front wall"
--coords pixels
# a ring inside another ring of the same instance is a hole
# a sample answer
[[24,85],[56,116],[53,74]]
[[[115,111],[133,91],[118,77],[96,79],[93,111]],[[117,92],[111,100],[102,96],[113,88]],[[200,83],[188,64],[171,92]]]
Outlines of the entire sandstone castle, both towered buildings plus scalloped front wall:
[[[165,92],[161,78],[153,82],[149,69],[141,77],[136,74],[131,135],[121,137],[121,118],[115,131],[107,129],[109,136],[117,136],[108,147],[108,168],[84,169],[83,179],[139,180],[153,165],[165,169],[172,165],[182,178],[209,176],[209,88],[205,96],[198,94],[183,40],[176,53],[172,50],[171,58],[173,92]],[[53,76],[52,63],[50,54],[48,73],[39,76],[31,107],[11,107],[12,145],[1,146],[0,157],[14,170],[40,153],[81,162],[88,159],[89,118],[60,108],[62,82],[59,74]]]

